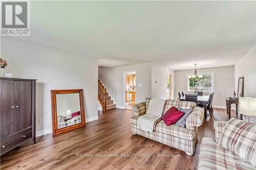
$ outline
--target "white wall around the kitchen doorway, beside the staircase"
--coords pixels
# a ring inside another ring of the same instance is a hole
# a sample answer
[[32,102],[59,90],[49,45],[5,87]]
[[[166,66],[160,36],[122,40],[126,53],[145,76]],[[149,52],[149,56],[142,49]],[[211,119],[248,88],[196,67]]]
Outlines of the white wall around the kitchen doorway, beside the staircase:
[[[122,67],[99,67],[99,78],[106,86],[117,107],[124,108],[124,71],[136,70],[136,98],[137,103],[151,98],[151,63],[142,63]],[[139,86],[142,84],[142,86]]]

